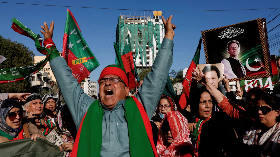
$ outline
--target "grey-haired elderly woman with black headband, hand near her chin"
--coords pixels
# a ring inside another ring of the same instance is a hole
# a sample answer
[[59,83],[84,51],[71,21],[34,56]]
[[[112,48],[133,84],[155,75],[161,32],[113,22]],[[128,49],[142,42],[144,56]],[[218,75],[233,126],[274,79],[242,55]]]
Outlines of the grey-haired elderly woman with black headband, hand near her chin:
[[42,115],[44,105],[41,94],[30,94],[26,98],[23,108],[27,111],[27,122],[35,124],[45,137],[54,129],[53,122]]

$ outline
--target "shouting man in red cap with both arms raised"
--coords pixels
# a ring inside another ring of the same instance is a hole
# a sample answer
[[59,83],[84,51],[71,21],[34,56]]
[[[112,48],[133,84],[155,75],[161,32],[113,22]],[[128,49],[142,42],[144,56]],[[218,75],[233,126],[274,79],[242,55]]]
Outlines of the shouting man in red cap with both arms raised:
[[[153,63],[135,97],[129,97],[125,69],[108,65],[99,76],[99,100],[84,93],[72,76],[64,58],[53,43],[53,22],[44,22],[44,45],[49,45],[50,66],[78,130],[71,156],[157,156],[150,121],[167,82],[173,62],[176,26],[172,15],[162,21],[165,36]],[[48,55],[47,54],[47,55]]]

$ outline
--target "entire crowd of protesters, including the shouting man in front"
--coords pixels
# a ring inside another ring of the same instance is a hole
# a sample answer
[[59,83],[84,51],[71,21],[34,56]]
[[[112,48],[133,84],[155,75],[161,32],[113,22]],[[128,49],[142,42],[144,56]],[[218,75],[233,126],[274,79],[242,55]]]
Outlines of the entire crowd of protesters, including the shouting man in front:
[[0,94],[0,142],[43,138],[67,157],[280,156],[279,98],[262,88],[236,99],[242,89],[233,93],[227,76],[211,65],[193,69],[193,81],[203,87],[190,92],[186,108],[162,95],[173,62],[171,19],[162,17],[166,33],[138,92],[129,96],[125,69],[108,65],[98,80],[99,99],[81,89],[55,49],[53,22],[50,29],[44,23],[43,44],[52,49],[47,55],[66,104],[54,94]]

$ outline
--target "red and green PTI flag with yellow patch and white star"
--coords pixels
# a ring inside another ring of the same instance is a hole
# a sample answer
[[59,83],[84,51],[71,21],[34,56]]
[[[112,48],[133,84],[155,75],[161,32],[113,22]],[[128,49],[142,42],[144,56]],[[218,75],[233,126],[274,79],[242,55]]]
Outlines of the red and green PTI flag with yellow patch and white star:
[[65,22],[62,56],[73,76],[80,83],[87,78],[99,63],[82,37],[81,29],[69,9]]

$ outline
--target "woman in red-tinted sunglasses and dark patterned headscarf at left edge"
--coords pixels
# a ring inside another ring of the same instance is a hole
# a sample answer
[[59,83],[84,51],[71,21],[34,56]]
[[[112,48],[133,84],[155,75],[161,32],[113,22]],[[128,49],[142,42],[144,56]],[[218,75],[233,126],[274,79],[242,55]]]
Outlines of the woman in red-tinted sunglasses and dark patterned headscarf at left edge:
[[45,139],[34,124],[25,124],[27,129],[23,129],[24,115],[25,111],[17,101],[5,99],[0,102],[0,143],[29,138],[29,135],[34,141],[36,138]]

